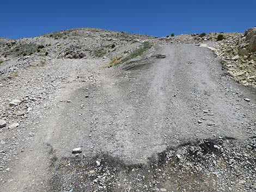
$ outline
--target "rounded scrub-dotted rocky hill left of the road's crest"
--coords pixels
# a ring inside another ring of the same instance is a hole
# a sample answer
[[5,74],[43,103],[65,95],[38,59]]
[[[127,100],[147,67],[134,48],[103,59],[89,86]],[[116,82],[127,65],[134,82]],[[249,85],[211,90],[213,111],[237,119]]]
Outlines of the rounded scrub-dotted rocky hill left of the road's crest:
[[[128,55],[154,37],[112,32],[96,28],[70,29],[22,38],[0,39],[0,74],[14,73],[28,66],[41,65],[53,58],[114,58]],[[4,64],[3,64],[4,63]]]

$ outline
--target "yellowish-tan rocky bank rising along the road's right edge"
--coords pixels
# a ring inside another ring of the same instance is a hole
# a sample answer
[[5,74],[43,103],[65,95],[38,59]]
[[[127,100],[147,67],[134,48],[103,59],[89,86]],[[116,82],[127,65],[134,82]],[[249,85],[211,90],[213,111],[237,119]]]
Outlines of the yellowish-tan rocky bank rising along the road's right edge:
[[256,86],[256,28],[245,34],[225,34],[215,48],[231,76],[242,84]]

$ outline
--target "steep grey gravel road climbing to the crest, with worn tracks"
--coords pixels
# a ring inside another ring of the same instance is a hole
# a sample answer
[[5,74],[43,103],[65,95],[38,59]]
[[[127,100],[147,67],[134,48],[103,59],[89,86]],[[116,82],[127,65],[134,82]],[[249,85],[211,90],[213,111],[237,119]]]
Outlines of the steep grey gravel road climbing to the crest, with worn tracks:
[[[253,90],[234,83],[209,49],[170,45],[148,56],[111,69],[106,61],[56,60],[70,67],[69,78],[39,123],[28,125],[35,136],[10,165],[1,191],[182,191],[178,185],[149,184],[153,180],[136,184],[132,171],[200,140],[218,145],[220,138],[243,143],[253,136]],[[77,157],[71,153],[76,147],[82,148]],[[145,171],[144,177],[150,180],[150,174]],[[215,177],[194,177],[200,186],[184,184],[186,191],[224,186],[224,181],[212,184]],[[186,181],[179,178],[178,183]]]

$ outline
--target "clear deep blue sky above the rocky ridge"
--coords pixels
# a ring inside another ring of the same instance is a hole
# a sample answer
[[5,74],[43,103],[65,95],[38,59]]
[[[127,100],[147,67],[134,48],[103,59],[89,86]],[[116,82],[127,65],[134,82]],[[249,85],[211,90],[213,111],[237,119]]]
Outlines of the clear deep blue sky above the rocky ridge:
[[0,36],[13,39],[78,27],[166,36],[256,26],[256,0],[2,0],[0,7]]

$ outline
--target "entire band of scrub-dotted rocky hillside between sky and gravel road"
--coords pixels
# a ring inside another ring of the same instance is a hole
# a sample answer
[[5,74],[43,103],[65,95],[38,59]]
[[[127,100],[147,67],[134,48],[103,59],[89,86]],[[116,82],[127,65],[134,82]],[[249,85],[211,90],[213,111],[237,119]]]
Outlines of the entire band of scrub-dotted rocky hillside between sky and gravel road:
[[151,45],[207,44],[227,72],[244,85],[256,86],[256,28],[241,33],[186,34],[155,38],[96,28],[79,28],[35,38],[0,38],[0,74],[47,63],[52,58],[125,58],[148,41]]

